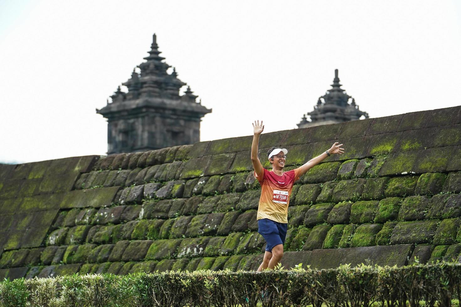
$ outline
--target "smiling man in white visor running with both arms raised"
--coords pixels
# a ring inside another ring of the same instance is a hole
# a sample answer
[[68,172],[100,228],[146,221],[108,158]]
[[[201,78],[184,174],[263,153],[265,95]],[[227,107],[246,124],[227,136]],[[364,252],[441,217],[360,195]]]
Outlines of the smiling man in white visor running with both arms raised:
[[284,242],[288,225],[288,205],[293,183],[306,174],[313,166],[322,162],[332,154],[343,154],[343,144],[335,142],[331,148],[319,156],[309,160],[299,168],[284,172],[285,159],[288,151],[284,148],[272,147],[267,152],[267,158],[272,165],[272,171],[263,168],[258,159],[258,143],[264,126],[259,121],[253,123],[253,143],[251,145],[251,162],[254,176],[261,185],[261,197],[258,206],[258,232],[266,240],[266,252],[258,271],[273,269],[284,255]]

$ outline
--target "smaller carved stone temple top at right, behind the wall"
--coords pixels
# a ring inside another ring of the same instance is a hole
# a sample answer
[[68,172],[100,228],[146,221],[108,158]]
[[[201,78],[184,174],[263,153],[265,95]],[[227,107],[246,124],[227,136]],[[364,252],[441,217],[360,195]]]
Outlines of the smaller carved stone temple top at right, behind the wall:
[[[335,70],[335,78],[333,79],[333,84],[331,84],[331,89],[325,95],[319,97],[312,112],[307,112],[307,115],[310,116],[310,121],[307,120],[306,115],[303,115],[301,122],[297,126],[306,128],[355,121],[360,119],[361,116],[368,118],[368,113],[359,110],[359,106],[355,104],[355,99],[346,94],[341,86],[339,84],[338,70]],[[352,99],[350,104],[349,99]]]

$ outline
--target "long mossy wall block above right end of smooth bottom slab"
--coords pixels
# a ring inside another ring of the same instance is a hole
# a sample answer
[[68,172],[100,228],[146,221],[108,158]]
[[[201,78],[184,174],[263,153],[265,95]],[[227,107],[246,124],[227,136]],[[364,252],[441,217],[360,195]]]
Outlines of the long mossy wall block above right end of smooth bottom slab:
[[398,222],[392,230],[390,244],[432,243],[439,220]]

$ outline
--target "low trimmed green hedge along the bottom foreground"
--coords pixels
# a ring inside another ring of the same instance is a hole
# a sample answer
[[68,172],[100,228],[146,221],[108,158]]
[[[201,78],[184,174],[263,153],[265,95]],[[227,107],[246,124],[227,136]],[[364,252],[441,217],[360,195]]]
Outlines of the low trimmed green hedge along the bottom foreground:
[[361,265],[265,272],[195,271],[5,280],[1,306],[451,306],[461,264]]

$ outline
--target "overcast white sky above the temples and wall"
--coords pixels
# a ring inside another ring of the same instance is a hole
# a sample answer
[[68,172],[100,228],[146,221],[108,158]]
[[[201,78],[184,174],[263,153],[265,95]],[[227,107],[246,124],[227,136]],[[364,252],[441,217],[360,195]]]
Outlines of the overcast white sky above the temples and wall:
[[0,162],[105,154],[95,113],[152,34],[201,140],[293,129],[330,88],[371,117],[461,104],[461,1],[0,1]]

